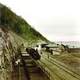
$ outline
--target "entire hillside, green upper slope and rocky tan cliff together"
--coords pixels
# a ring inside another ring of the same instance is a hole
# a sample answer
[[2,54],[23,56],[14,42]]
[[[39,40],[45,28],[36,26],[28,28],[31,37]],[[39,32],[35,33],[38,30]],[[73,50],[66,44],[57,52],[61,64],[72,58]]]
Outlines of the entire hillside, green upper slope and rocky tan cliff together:
[[20,50],[39,41],[48,40],[23,18],[0,4],[0,80],[12,80],[13,62]]

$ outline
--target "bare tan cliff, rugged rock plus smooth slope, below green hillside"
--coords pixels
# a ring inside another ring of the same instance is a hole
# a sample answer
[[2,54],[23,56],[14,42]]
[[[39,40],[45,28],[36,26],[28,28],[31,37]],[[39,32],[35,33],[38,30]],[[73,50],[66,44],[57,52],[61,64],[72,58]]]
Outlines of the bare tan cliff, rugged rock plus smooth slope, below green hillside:
[[12,80],[13,62],[19,54],[18,50],[22,49],[20,46],[23,41],[25,40],[0,25],[0,80]]

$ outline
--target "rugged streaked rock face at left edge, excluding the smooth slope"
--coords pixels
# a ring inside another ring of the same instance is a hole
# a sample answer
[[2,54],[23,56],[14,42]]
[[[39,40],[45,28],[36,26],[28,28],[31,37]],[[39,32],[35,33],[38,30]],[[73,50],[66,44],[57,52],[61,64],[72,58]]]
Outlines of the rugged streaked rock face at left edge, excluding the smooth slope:
[[0,26],[0,80],[11,80],[15,51],[10,33]]

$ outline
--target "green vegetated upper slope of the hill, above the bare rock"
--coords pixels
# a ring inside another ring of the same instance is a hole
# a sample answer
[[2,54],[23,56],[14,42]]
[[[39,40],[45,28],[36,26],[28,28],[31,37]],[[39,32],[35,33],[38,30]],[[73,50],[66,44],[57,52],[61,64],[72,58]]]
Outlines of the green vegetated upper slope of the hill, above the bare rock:
[[48,41],[38,31],[31,27],[23,18],[17,16],[8,7],[0,4],[0,22],[5,28],[25,39],[29,44],[37,41]]

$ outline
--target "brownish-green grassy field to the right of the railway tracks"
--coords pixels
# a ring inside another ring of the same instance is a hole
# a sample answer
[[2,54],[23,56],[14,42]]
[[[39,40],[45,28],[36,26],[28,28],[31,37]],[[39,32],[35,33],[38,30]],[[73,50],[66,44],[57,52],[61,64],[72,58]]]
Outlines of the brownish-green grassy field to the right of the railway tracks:
[[54,55],[53,58],[80,74],[80,53],[63,53],[61,55]]

